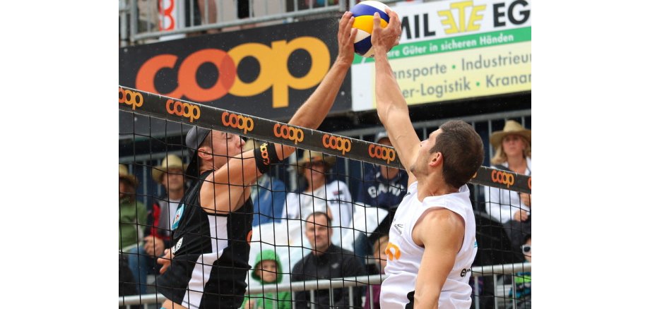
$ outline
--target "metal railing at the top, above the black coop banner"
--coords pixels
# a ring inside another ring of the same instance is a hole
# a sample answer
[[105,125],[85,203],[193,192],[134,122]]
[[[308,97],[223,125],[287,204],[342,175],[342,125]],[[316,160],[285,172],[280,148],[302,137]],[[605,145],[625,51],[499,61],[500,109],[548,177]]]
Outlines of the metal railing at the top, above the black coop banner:
[[[357,2],[357,0],[119,0],[120,42],[121,46],[125,47],[127,44],[146,44],[166,38],[182,37],[193,32],[213,33],[228,28],[237,30],[291,23],[295,19],[312,16],[333,16],[348,10]],[[401,1],[382,2],[394,4]],[[241,12],[240,8],[242,8]],[[174,28],[161,30],[165,18],[175,20]]]

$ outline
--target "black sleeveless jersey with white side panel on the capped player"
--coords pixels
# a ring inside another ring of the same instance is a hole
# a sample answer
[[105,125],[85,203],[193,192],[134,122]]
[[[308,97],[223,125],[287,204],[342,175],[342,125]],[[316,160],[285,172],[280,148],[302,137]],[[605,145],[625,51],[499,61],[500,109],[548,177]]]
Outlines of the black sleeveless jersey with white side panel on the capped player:
[[235,212],[210,214],[201,208],[201,174],[179,202],[172,224],[170,268],[158,291],[187,308],[239,308],[246,291],[252,210],[250,199]]

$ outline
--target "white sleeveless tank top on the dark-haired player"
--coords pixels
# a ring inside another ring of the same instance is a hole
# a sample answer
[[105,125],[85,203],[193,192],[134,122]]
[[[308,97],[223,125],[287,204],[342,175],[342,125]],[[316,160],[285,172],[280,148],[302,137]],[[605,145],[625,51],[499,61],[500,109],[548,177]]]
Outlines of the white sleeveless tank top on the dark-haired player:
[[[386,276],[380,296],[382,309],[404,308],[413,301],[415,279],[420,271],[420,262],[425,249],[413,243],[413,226],[422,214],[430,208],[447,208],[465,220],[465,236],[456,262],[442,286],[439,308],[469,308],[472,289],[469,286],[471,266],[478,250],[476,224],[469,200],[469,189],[462,186],[458,193],[428,196],[418,200],[418,182],[408,187],[400,203],[389,231],[389,245],[386,247]],[[423,269],[426,271],[426,268]]]

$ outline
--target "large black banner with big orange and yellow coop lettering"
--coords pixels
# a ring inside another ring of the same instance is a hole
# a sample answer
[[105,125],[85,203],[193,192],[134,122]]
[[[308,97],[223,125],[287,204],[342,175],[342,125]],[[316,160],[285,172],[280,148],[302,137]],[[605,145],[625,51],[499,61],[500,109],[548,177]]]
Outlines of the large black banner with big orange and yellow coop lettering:
[[[201,35],[119,50],[119,85],[288,120],[338,54],[338,19]],[[350,111],[350,74],[331,113]]]

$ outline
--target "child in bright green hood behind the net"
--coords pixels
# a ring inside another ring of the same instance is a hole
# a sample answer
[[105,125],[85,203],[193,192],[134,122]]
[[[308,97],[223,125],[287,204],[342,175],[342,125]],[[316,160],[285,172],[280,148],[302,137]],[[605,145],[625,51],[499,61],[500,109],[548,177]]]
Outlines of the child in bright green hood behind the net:
[[[260,284],[279,284],[282,281],[282,263],[273,250],[263,250],[255,259],[255,266],[251,270],[251,278]],[[260,293],[244,296],[244,309],[290,309],[291,293]]]

